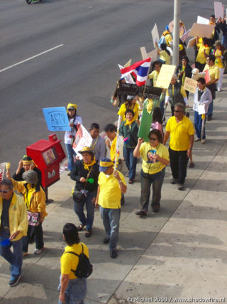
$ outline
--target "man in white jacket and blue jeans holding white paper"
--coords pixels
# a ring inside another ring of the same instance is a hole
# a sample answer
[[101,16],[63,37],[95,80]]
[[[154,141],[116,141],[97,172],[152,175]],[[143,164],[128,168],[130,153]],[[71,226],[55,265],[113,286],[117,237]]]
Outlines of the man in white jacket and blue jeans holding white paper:
[[198,88],[196,88],[196,93],[194,93],[194,104],[193,104],[194,128],[196,130],[196,136],[197,136],[197,138],[194,140],[195,142],[199,142],[200,140],[202,144],[206,142],[205,126],[203,130],[204,133],[203,137],[201,137],[202,119],[203,119],[202,115],[204,115],[207,112],[209,103],[211,102],[212,102],[212,95],[209,88],[206,88],[206,80],[204,78],[199,78]]

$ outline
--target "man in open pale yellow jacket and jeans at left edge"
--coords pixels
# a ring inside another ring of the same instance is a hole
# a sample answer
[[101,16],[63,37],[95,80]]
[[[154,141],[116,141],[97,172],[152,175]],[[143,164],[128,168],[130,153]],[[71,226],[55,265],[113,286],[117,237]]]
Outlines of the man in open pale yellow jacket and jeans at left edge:
[[10,179],[0,182],[0,224],[0,253],[11,264],[9,285],[12,287],[21,278],[23,236],[27,234],[28,216],[26,204],[21,196],[13,192]]

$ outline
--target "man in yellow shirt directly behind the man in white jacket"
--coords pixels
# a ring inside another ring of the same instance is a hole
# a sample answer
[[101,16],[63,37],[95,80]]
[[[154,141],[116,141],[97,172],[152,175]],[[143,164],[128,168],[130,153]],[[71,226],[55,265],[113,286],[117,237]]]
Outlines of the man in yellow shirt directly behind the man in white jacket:
[[204,72],[206,70],[209,70],[209,75],[211,80],[206,83],[206,88],[209,88],[212,95],[212,102],[209,104],[208,112],[207,112],[207,120],[213,119],[213,110],[214,110],[214,99],[216,98],[216,83],[218,82],[218,79],[220,78],[220,71],[218,66],[215,64],[215,56],[209,55],[206,58],[206,65],[204,68]]

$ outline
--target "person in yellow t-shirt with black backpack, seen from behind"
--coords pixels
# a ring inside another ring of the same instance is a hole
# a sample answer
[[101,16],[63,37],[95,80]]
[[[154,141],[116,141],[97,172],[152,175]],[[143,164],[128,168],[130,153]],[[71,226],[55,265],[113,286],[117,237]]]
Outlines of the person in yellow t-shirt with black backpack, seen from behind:
[[[84,243],[79,243],[77,227],[67,223],[63,227],[63,238],[67,243],[65,252],[61,256],[61,277],[58,290],[59,304],[84,303],[87,294],[87,278],[77,278],[74,271],[77,270],[79,255],[84,253],[89,258],[89,251]],[[76,253],[78,256],[76,256]]]

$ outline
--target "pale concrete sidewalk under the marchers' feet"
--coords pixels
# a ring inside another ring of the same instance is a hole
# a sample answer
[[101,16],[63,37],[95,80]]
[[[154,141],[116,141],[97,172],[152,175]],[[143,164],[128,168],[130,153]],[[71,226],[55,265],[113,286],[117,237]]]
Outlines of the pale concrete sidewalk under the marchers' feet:
[[[217,93],[214,120],[206,123],[207,142],[194,143],[195,167],[188,169],[186,189],[170,184],[167,167],[161,209],[135,216],[140,199],[140,164],[135,184],[128,184],[121,209],[118,258],[109,257],[101,243],[104,227],[95,212],[92,237],[80,239],[89,246],[94,272],[88,279],[85,303],[140,303],[219,301],[227,295],[227,98]],[[192,108],[192,96],[190,98]],[[191,111],[191,118],[193,116]],[[170,112],[167,113],[170,116]],[[35,245],[24,258],[21,283],[10,288],[9,263],[0,258],[0,303],[57,303],[60,256],[65,247],[62,226],[79,224],[70,193],[74,182],[61,174],[49,189],[54,202],[48,205],[43,223],[45,251],[35,256]],[[184,300],[184,298],[186,300]],[[193,299],[192,299],[193,298]],[[128,300],[127,300],[128,299]],[[194,300],[195,299],[195,300]]]

